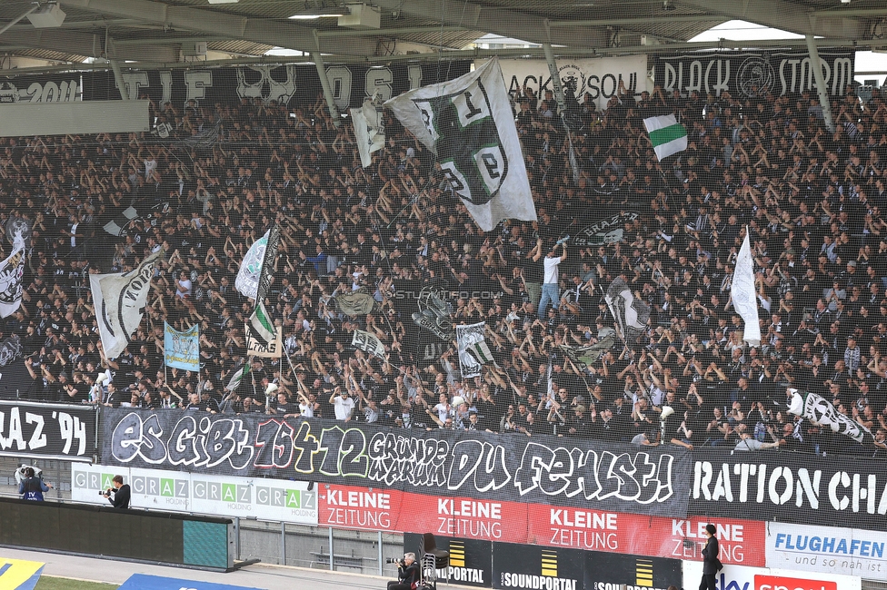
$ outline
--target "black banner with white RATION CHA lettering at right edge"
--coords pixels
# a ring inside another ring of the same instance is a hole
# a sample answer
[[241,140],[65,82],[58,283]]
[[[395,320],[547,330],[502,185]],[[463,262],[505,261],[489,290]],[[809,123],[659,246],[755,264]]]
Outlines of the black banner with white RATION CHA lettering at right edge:
[[693,451],[693,515],[884,530],[887,464],[767,451]]

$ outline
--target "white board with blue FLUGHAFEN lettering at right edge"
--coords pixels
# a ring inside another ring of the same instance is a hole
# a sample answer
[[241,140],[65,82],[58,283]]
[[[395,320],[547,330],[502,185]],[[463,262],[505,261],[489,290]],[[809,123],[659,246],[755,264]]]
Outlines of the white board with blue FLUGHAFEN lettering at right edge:
[[887,581],[883,532],[832,526],[767,526],[767,565]]

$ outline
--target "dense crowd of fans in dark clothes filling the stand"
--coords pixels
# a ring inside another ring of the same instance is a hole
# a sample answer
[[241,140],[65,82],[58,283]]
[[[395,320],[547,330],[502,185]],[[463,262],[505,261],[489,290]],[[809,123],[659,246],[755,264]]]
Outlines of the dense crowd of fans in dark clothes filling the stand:
[[[39,400],[881,455],[887,105],[848,88],[832,102],[830,133],[815,94],[752,94],[657,87],[620,93],[603,111],[580,97],[577,181],[551,93],[513,93],[539,221],[486,234],[399,123],[386,119],[385,148],[363,169],[351,124],[335,127],[320,98],[153,105],[157,123],[174,127],[165,140],[0,139],[0,221],[33,223],[24,301],[2,337],[20,337],[34,381],[25,389]],[[686,126],[689,147],[658,162],[643,118],[664,113]],[[215,141],[183,141],[216,124]],[[133,203],[151,214],[124,237],[106,233],[105,221]],[[158,203],[168,210],[152,210]],[[620,212],[638,215],[608,240],[554,247]],[[253,310],[234,278],[274,222],[283,239],[265,306],[288,358],[249,360],[251,376],[229,392]],[[731,301],[746,226],[760,348],[743,343]],[[107,359],[87,275],[132,270],[160,248],[145,319]],[[578,367],[560,346],[613,333],[603,292],[618,276],[651,307],[648,332]],[[414,301],[397,297],[400,281],[467,295],[446,303],[453,325],[486,322],[495,362],[481,377],[460,378],[454,346],[418,362],[434,335],[415,325]],[[374,310],[344,314],[335,296],[359,289]],[[200,325],[199,374],[164,368],[164,320]],[[387,359],[354,349],[354,329],[380,339]],[[105,369],[114,377],[96,387]],[[788,414],[789,387],[833,401],[872,438],[856,443]],[[667,419],[663,408],[673,409]]]

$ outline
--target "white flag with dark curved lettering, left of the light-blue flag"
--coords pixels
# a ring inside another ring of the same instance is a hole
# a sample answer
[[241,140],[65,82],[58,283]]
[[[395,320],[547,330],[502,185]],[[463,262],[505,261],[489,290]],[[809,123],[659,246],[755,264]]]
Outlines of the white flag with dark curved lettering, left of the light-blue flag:
[[154,252],[129,272],[89,275],[98,335],[108,359],[115,359],[123,352],[142,321],[154,266],[163,253],[162,250]]

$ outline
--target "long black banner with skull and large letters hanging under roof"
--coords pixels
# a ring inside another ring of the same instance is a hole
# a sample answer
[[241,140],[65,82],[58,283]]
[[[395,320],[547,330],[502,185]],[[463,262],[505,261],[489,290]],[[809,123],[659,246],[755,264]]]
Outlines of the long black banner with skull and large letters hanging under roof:
[[[470,62],[453,62],[447,80],[467,74]],[[332,65],[326,68],[338,108],[360,106],[378,92],[388,100],[407,90],[443,82],[437,64]],[[143,70],[124,72],[127,92],[132,98],[146,96],[158,105],[181,107],[188,101],[203,106],[236,104],[242,99],[274,100],[277,103],[313,104],[324,91],[313,64],[244,65],[216,69]],[[85,101],[117,100],[112,72],[83,74]]]

